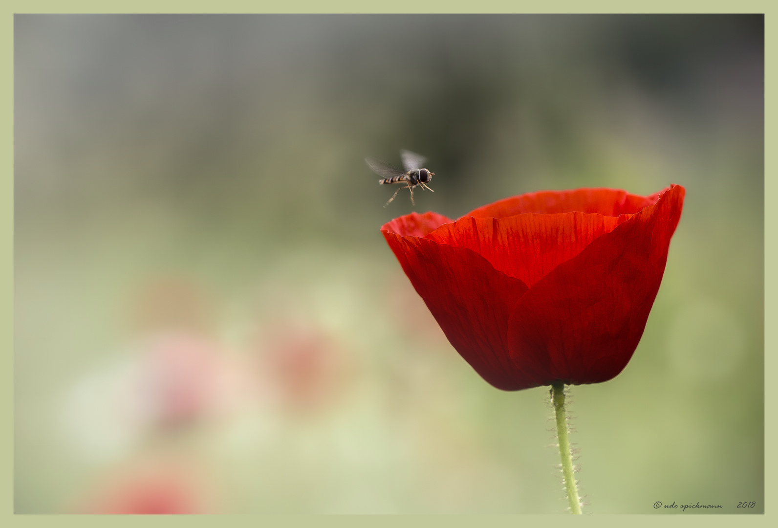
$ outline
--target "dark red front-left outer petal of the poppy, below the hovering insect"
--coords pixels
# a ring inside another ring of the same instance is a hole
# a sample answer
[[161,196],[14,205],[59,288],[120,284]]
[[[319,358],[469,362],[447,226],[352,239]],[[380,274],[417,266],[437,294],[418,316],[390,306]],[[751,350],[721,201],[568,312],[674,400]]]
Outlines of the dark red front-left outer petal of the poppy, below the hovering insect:
[[457,352],[499,389],[524,379],[510,361],[507,336],[508,316],[527,286],[468,248],[402,237],[392,227],[381,228],[384,238]]

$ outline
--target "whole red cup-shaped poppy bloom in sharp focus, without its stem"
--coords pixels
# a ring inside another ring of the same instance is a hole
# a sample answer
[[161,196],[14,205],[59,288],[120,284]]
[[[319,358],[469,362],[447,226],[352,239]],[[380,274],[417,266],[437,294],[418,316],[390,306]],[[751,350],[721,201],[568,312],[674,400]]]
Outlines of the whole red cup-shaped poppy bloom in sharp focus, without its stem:
[[532,192],[381,227],[465,361],[498,389],[605,382],[632,357],[685,189]]

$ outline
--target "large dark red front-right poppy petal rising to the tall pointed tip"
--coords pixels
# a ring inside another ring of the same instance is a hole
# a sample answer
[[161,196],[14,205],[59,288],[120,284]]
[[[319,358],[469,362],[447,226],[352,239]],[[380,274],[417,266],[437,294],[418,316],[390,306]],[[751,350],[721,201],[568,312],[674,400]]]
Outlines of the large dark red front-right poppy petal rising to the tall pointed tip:
[[629,362],[643,335],[681,217],[685,189],[595,239],[531,287],[513,308],[510,357],[532,382],[512,389],[605,382]]

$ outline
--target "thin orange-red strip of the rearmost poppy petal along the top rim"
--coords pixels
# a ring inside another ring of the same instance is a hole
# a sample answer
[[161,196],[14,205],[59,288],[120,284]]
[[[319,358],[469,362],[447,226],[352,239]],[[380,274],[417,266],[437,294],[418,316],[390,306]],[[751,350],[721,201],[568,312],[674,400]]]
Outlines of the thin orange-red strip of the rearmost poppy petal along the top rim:
[[650,196],[629,194],[613,188],[578,188],[572,191],[539,191],[512,196],[473,209],[465,216],[506,218],[524,213],[600,213],[605,216],[634,214],[653,205],[661,192]]

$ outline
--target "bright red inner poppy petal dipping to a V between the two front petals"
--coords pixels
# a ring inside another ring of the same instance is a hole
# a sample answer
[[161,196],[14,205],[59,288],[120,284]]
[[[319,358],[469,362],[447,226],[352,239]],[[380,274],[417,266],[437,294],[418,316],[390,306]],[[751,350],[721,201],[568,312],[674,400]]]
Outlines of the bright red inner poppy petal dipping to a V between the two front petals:
[[495,269],[520,279],[527,287],[562,262],[584,251],[631,215],[558,213],[522,214],[508,218],[463,216],[428,234],[428,240],[468,248]]

